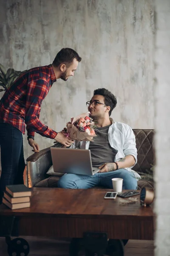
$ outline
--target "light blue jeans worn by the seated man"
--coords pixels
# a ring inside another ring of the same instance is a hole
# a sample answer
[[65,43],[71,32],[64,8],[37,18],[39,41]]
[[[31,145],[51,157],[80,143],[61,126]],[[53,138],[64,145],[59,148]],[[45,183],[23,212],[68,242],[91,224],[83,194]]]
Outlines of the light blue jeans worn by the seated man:
[[119,169],[113,172],[101,172],[95,175],[65,174],[58,181],[59,188],[65,189],[89,189],[94,186],[103,186],[113,189],[112,178],[122,178],[122,189],[137,189],[137,180],[133,172]]

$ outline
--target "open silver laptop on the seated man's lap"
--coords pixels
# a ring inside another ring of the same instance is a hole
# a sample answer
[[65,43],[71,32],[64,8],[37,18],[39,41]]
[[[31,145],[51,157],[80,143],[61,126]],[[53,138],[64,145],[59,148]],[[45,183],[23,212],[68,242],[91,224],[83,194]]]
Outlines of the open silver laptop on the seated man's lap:
[[89,149],[51,148],[54,172],[94,175],[99,172],[91,163]]

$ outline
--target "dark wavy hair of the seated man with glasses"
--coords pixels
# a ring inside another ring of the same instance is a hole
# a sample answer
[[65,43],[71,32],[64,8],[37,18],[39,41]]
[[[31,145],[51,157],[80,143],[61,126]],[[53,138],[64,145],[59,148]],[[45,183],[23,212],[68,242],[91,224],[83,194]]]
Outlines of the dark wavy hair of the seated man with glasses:
[[111,93],[109,90],[107,90],[105,88],[99,88],[99,89],[94,90],[94,95],[104,96],[105,105],[111,107],[111,110],[109,111],[109,116],[111,116],[112,110],[113,110],[113,108],[116,107],[116,104],[117,104],[117,99],[113,95],[113,93]]

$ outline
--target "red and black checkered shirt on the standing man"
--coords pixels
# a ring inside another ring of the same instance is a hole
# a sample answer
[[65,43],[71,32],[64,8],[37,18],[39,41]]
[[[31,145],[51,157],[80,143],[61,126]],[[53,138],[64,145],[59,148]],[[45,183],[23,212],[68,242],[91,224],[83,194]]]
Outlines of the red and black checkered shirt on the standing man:
[[57,132],[42,124],[39,117],[42,100],[55,81],[51,64],[28,70],[8,88],[0,100],[0,122],[13,125],[23,134],[27,129],[28,135],[34,136],[36,131],[54,139]]

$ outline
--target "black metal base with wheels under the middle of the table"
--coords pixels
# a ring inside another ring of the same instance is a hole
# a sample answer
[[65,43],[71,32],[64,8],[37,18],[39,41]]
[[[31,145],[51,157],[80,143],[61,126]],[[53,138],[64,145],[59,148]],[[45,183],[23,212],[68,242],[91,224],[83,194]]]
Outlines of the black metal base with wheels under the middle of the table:
[[106,233],[85,233],[73,238],[70,256],[124,256],[124,244],[119,239],[108,239]]

